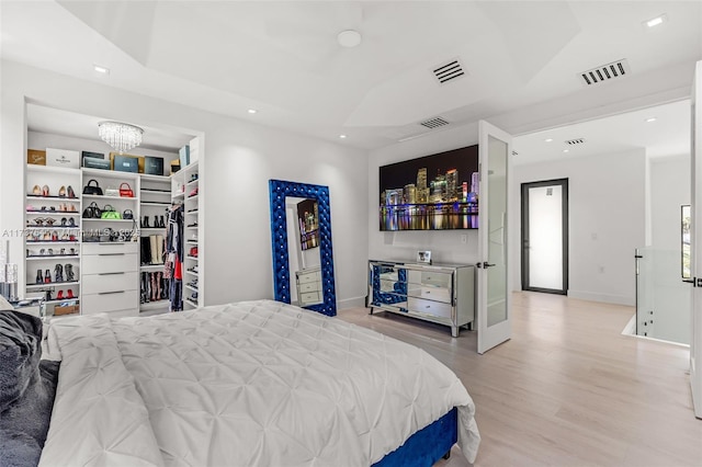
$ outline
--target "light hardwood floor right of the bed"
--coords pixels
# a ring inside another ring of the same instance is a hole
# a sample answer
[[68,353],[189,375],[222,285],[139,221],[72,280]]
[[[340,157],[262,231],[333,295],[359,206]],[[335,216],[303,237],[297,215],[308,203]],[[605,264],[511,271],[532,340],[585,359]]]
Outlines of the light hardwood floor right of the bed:
[[[475,332],[365,308],[339,318],[418,345],[476,405],[476,466],[702,466],[689,351],[621,335],[631,307],[516,293],[512,339],[485,355]],[[454,451],[456,447],[454,447]],[[453,453],[438,466],[467,466]]]

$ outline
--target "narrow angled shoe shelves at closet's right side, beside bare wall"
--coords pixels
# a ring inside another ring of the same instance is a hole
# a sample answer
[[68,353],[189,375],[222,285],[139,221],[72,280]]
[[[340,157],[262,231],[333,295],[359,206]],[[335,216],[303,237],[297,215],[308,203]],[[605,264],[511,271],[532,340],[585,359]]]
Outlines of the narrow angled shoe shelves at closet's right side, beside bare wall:
[[202,248],[200,210],[201,179],[197,161],[186,166],[172,176],[172,202],[182,203],[185,224],[183,226],[183,308],[204,305],[202,283]]

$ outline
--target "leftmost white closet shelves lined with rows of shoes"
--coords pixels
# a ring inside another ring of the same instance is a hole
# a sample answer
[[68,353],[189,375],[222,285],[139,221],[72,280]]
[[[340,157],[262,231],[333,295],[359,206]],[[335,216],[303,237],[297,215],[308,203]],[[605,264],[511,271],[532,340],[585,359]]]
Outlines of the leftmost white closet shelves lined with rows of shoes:
[[[46,301],[46,307],[53,315],[57,305],[80,303],[81,171],[26,164],[25,175],[24,296],[46,296],[49,292],[52,299]],[[39,190],[47,186],[48,194],[35,194],[34,186]],[[73,193],[68,191],[69,186]],[[56,282],[57,264],[63,269],[61,282]],[[72,269],[73,281],[65,280],[66,265]],[[45,282],[47,270],[50,282]],[[63,299],[57,298],[59,292]]]

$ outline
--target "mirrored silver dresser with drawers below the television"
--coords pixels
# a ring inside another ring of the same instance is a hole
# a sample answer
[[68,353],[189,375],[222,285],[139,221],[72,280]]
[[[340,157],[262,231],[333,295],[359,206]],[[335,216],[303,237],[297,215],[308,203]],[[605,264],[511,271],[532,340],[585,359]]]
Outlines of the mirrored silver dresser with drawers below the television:
[[475,316],[475,267],[369,261],[369,306],[458,329]]

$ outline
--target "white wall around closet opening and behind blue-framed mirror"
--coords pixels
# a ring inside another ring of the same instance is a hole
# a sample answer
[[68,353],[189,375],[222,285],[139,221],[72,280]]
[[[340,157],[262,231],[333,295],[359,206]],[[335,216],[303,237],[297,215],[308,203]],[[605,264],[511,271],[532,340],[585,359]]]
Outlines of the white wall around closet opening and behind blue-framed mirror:
[[[273,297],[269,179],[329,186],[337,298],[341,306],[362,304],[365,151],[9,61],[2,61],[0,98],[0,230],[23,225],[25,99],[137,125],[202,133],[205,304]],[[21,258],[22,238],[11,240],[13,258]]]

